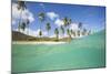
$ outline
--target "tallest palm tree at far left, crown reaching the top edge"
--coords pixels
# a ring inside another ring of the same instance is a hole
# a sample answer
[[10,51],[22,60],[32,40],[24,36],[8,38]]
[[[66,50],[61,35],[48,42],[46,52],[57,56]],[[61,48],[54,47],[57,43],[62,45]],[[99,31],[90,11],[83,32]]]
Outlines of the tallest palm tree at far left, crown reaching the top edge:
[[27,9],[27,6],[26,6],[26,2],[24,1],[18,1],[18,10],[20,10],[20,20],[19,20],[19,27],[18,27],[18,30],[20,32],[20,24],[21,24],[21,21],[22,21],[22,11]]

